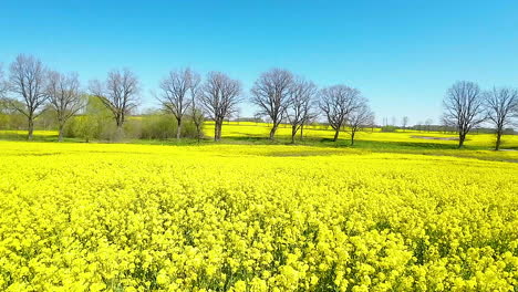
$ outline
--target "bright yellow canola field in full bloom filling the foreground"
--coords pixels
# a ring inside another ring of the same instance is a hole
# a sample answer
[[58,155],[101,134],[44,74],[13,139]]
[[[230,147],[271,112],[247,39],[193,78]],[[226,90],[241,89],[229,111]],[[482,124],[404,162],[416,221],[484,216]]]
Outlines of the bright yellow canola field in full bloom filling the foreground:
[[517,194],[503,161],[0,142],[0,290],[512,291]]

